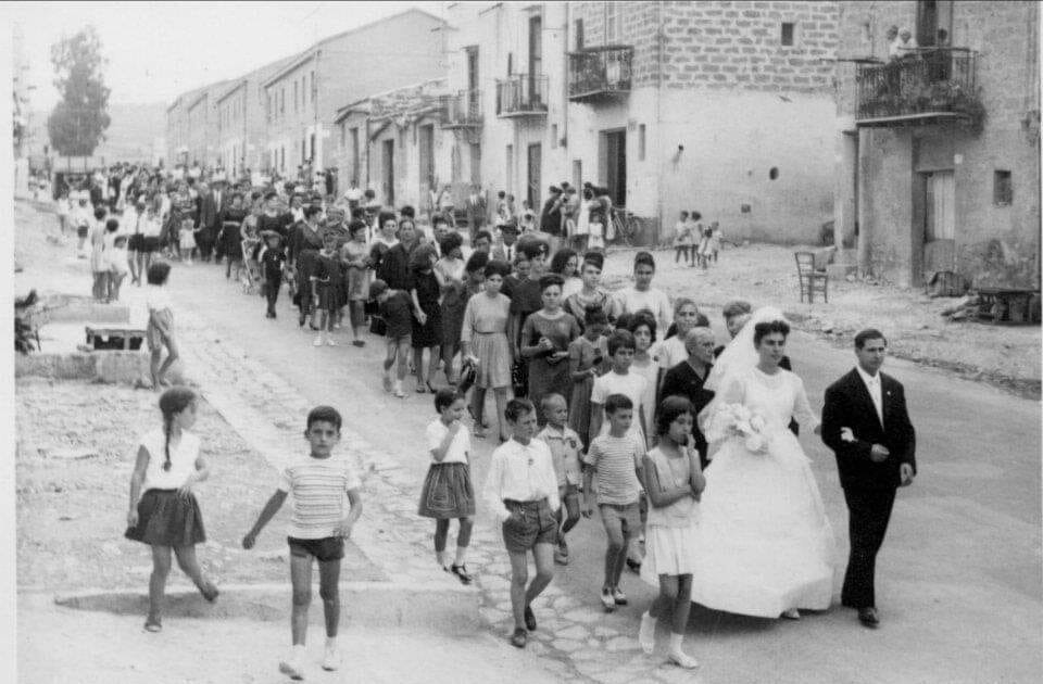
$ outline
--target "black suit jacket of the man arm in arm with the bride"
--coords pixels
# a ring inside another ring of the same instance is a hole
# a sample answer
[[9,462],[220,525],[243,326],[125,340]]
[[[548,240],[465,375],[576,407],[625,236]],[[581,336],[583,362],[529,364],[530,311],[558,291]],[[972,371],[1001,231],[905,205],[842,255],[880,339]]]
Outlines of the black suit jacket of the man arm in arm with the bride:
[[[894,378],[880,373],[883,425],[877,417],[869,390],[856,369],[829,385],[822,406],[822,441],[837,455],[840,484],[845,490],[879,490],[901,483],[899,466],[909,464],[916,472],[916,432],[905,406],[905,391]],[[850,428],[853,442],[841,438]],[[890,455],[877,464],[869,458],[874,444]]]

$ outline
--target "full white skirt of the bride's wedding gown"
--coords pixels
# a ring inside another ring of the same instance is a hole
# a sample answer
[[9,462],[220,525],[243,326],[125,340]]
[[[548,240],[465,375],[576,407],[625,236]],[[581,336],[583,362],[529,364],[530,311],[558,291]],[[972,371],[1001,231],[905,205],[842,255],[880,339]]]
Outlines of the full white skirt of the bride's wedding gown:
[[767,453],[727,440],[706,468],[692,600],[707,608],[762,618],[829,608],[833,534],[821,495],[793,433],[771,435]]

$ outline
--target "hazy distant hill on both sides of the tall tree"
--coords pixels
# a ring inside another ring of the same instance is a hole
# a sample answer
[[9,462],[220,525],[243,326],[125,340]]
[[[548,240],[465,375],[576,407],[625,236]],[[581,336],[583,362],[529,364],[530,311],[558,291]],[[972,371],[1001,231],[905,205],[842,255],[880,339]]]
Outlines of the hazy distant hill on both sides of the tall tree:
[[[50,111],[33,112],[29,122],[32,143],[30,154],[43,152],[43,145],[50,145],[47,135],[47,117]],[[109,116],[112,123],[105,131],[105,140],[95,150],[96,157],[104,157],[105,163],[120,161],[149,161],[152,143],[166,135],[166,104],[110,104]],[[166,150],[162,151],[165,154]],[[53,154],[53,152],[52,152]]]

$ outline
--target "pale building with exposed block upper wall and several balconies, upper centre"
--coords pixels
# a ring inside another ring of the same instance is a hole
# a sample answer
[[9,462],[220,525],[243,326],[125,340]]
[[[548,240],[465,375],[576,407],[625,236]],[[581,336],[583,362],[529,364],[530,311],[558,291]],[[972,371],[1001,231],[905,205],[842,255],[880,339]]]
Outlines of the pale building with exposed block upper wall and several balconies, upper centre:
[[[462,156],[490,193],[591,181],[646,240],[681,210],[777,242],[832,217],[835,2],[458,3],[449,24],[450,89],[481,90]],[[504,116],[527,90],[539,112]]]

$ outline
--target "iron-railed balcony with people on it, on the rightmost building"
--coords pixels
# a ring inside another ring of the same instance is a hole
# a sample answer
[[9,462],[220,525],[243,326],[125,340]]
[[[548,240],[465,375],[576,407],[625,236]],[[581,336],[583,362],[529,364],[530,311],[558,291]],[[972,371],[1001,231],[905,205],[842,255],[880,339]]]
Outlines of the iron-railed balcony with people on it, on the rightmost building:
[[865,128],[922,126],[945,121],[980,125],[978,53],[922,48],[887,64],[859,64],[855,124]]

